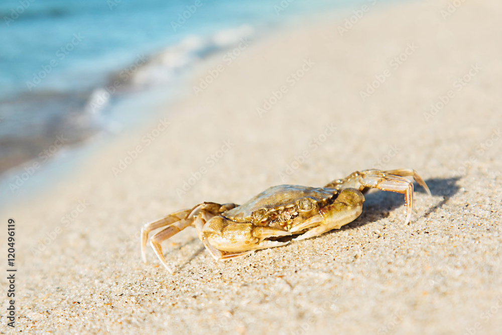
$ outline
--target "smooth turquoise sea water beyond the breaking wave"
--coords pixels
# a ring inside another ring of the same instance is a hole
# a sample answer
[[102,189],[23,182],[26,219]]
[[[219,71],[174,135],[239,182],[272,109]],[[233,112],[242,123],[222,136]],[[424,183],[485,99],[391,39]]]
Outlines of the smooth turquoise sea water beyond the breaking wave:
[[[138,53],[159,52],[189,35],[209,36],[243,24],[274,25],[288,16],[334,8],[348,1],[296,0],[278,15],[274,6],[280,3],[263,0],[3,1],[0,4],[0,18],[3,18],[0,97],[30,91],[27,81],[33,82],[34,73],[44,70],[43,67],[48,69],[51,60],[57,65],[41,83],[32,86],[31,91],[90,89],[104,84],[108,72],[128,65]],[[179,16],[183,14],[186,22],[179,24]],[[75,35],[80,39],[75,39]]]

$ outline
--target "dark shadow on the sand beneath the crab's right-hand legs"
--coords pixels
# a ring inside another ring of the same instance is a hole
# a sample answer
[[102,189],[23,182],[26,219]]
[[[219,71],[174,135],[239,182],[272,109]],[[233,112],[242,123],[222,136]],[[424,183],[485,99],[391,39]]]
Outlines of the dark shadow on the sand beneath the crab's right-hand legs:
[[[441,208],[453,195],[458,192],[459,187],[456,182],[459,179],[459,177],[455,177],[431,178],[425,180],[427,186],[429,186],[432,196],[443,197],[443,199],[427,209],[427,211],[423,214],[424,217],[429,217],[431,213],[434,213],[436,210]],[[415,183],[415,193],[422,193],[428,197],[427,192],[417,183]],[[342,227],[342,230],[361,227],[376,220],[386,218],[389,216],[391,211],[404,207],[405,203],[403,194],[394,192],[372,190],[364,194],[364,197],[366,200],[364,201],[362,214],[354,221],[350,222],[350,224]],[[335,231],[332,231],[332,233],[333,232]]]

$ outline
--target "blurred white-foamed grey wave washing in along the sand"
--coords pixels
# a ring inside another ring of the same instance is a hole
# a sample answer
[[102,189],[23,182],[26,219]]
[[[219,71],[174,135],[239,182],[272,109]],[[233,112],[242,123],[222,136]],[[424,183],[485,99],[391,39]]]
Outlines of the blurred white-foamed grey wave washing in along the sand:
[[[210,36],[188,36],[153,56],[139,55],[128,67],[112,73],[104,86],[85,91],[26,92],[4,99],[0,108],[0,175],[39,159],[58,136],[66,139],[63,147],[71,147],[103,132],[115,133],[124,120],[118,116],[117,124],[117,115],[109,114],[114,102],[129,98],[131,92],[159,86],[168,91],[198,62],[254,34],[255,29],[245,25]],[[138,110],[131,113],[141,117]]]

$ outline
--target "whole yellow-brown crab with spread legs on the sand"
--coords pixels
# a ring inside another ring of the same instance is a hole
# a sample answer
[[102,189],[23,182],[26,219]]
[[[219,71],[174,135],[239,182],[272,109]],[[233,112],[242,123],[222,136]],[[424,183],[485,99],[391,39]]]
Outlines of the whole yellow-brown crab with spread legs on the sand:
[[413,169],[356,171],[324,187],[300,185],[273,186],[242,205],[202,202],[143,226],[141,253],[146,262],[148,235],[163,228],[150,239],[162,265],[167,265],[161,244],[187,227],[195,227],[199,240],[215,260],[228,260],[256,250],[285,246],[319,236],[355,220],[362,212],[364,195],[376,188],[405,195],[409,224],[413,209],[412,176],[431,195],[427,184]]

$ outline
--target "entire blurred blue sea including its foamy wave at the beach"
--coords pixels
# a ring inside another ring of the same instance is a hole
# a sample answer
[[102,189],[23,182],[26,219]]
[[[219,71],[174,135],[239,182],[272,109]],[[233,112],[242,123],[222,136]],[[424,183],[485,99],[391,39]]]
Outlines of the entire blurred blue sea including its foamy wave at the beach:
[[195,62],[243,37],[348,4],[356,6],[350,0],[4,0],[0,173],[36,158],[57,136],[71,145],[106,131],[116,100],[173,84]]

